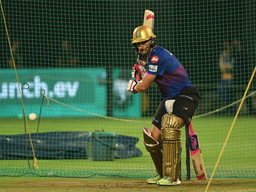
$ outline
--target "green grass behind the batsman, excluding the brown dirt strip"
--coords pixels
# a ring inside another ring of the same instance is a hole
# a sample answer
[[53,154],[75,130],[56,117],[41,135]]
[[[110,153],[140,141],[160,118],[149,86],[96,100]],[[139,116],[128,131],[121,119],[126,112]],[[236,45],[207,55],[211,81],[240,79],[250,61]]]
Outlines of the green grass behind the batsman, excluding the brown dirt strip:
[[[144,123],[142,123],[144,122]],[[212,116],[193,119],[198,133],[201,151],[208,177],[218,159],[227,133],[233,122],[230,116]],[[38,122],[28,122],[30,133],[35,133]],[[230,135],[215,177],[255,177],[256,175],[256,134],[255,119],[239,117]],[[90,160],[38,160],[39,169],[28,169],[27,160],[0,160],[1,175],[39,175],[60,177],[120,176],[148,177],[154,175],[154,166],[143,144],[142,127],[151,128],[151,118],[134,119],[134,122],[122,122],[102,118],[42,118],[39,132],[50,131],[114,131],[122,135],[138,137],[137,148],[143,152],[141,157],[115,159],[114,161]],[[27,129],[28,131],[28,129]],[[23,119],[1,119],[0,134],[24,134]],[[185,130],[182,128],[182,175],[186,175]],[[192,164],[192,163],[191,163]],[[32,161],[30,161],[32,165]],[[191,166],[192,177],[195,177]],[[95,175],[96,174],[96,175]]]

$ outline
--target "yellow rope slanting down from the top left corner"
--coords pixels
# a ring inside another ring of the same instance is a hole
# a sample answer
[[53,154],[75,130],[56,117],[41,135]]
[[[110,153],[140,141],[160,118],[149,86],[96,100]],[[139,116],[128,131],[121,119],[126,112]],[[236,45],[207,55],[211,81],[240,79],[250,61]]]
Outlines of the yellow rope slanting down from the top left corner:
[[17,83],[18,83],[18,87],[19,87],[22,109],[23,109],[24,117],[26,119],[26,125],[27,125],[27,128],[28,128],[29,140],[30,140],[32,151],[33,151],[33,158],[34,158],[33,166],[36,169],[38,169],[37,159],[35,158],[35,151],[34,151],[34,148],[33,148],[33,143],[32,143],[32,139],[31,139],[31,135],[30,135],[30,131],[29,131],[29,126],[28,126],[28,121],[27,121],[27,118],[26,118],[25,107],[24,107],[24,102],[23,102],[23,95],[22,95],[21,90],[20,90],[20,83],[19,83],[19,79],[18,79],[18,75],[17,75],[16,65],[15,65],[15,61],[14,61],[14,57],[13,57],[13,53],[12,53],[11,41],[10,41],[9,33],[8,33],[8,30],[7,30],[6,19],[5,19],[4,13],[3,13],[3,5],[2,5],[1,0],[0,0],[0,4],[1,4],[1,10],[2,10],[2,14],[3,14],[3,21],[4,21],[4,25],[5,25],[5,29],[6,29],[6,35],[7,35],[8,42],[9,42],[9,47],[10,47],[10,50],[11,50],[12,63],[13,63],[13,67],[14,67],[14,70],[15,70],[15,76],[16,76],[16,80],[17,80]]

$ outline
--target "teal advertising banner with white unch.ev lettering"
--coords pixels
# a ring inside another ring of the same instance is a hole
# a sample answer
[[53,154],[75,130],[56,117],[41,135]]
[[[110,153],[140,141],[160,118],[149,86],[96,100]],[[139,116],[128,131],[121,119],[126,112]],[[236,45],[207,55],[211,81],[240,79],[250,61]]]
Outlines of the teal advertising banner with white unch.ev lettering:
[[[113,88],[104,83],[105,68],[19,69],[17,74],[26,115],[39,113],[45,92],[56,102],[44,99],[42,117],[105,116],[107,99],[114,105],[113,116],[140,116],[140,95],[126,91],[129,79],[118,79],[118,70],[113,73]],[[106,94],[109,88],[113,91],[111,98]],[[0,106],[1,117],[23,116],[14,70],[0,71]]]

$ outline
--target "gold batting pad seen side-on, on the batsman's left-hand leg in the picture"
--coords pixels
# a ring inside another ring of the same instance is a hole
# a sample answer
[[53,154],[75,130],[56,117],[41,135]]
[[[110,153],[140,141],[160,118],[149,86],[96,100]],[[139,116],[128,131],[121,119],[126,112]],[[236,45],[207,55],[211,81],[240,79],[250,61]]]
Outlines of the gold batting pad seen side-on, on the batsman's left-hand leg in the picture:
[[157,170],[158,175],[163,177],[163,152],[158,146],[157,141],[147,133],[147,128],[143,128],[143,143],[146,150],[150,153],[151,158],[154,162],[154,166]]

